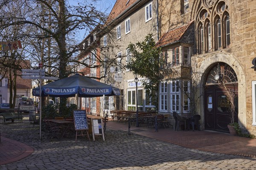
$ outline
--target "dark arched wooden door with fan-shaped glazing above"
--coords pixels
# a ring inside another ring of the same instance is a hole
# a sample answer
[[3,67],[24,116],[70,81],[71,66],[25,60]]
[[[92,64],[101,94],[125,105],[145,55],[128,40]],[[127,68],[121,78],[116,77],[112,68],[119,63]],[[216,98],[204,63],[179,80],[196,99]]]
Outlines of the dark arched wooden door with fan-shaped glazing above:
[[238,81],[235,71],[225,63],[212,67],[204,86],[205,129],[229,132],[227,125],[231,122],[231,102],[233,96],[235,115],[238,122]]

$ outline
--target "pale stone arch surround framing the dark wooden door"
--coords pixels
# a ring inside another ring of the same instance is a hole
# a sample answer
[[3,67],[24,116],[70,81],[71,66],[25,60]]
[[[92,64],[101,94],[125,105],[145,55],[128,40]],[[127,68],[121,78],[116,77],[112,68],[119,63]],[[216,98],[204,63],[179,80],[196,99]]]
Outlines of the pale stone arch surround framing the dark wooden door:
[[[202,58],[195,58],[196,65],[192,65],[192,68],[195,68],[193,70],[193,74],[198,74],[198,87],[200,88],[200,92],[198,92],[197,95],[201,96],[200,107],[198,108],[198,113],[201,113],[201,121],[202,121],[202,128],[204,128],[204,111],[205,111],[205,105],[204,105],[204,85],[207,79],[207,74],[213,67],[213,65],[217,65],[218,62],[224,62],[227,65],[230,65],[231,68],[236,73],[237,79],[238,79],[238,119],[240,125],[246,125],[246,96],[244,95],[246,93],[246,80],[245,80],[245,74],[244,74],[244,68],[242,64],[239,62],[239,60],[233,55],[229,54],[223,51],[215,51],[212,53],[209,53],[207,55],[204,55]],[[196,76],[195,76],[196,77]]]

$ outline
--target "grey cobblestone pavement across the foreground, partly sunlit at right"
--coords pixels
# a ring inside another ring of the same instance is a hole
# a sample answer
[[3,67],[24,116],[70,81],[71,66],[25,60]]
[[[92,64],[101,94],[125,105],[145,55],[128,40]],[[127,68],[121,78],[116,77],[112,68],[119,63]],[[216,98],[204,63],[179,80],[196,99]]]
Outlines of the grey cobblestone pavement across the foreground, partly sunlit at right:
[[1,136],[33,147],[25,158],[0,165],[0,170],[254,170],[256,158],[181,147],[122,130],[107,129],[105,141],[85,136],[47,139],[28,118],[4,125]]

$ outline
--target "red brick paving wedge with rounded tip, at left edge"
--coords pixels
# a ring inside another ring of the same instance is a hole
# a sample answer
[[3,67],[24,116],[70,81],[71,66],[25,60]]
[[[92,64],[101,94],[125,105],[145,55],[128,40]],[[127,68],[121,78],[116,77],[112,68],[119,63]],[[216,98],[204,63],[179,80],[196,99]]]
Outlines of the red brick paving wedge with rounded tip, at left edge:
[[8,164],[29,156],[34,149],[26,144],[1,136],[0,165]]

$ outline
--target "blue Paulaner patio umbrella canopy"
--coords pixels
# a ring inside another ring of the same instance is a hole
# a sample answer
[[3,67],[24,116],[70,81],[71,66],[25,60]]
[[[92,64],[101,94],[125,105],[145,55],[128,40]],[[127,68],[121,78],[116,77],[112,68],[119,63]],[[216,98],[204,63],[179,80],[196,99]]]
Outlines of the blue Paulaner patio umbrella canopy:
[[[119,88],[90,79],[89,77],[75,74],[73,76],[51,82],[41,87],[41,96],[51,97],[99,97],[119,96]],[[40,96],[40,88],[33,88],[33,96]]]

